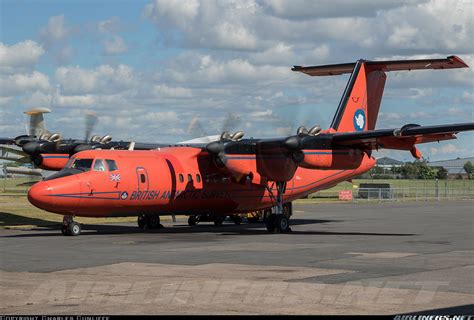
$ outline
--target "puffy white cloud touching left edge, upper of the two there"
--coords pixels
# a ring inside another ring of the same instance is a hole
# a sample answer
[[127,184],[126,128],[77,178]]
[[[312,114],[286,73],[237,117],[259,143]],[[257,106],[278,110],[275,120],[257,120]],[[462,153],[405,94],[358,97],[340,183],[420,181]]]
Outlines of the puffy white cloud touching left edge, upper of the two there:
[[15,72],[33,68],[44,54],[35,41],[25,40],[8,46],[0,42],[0,72]]

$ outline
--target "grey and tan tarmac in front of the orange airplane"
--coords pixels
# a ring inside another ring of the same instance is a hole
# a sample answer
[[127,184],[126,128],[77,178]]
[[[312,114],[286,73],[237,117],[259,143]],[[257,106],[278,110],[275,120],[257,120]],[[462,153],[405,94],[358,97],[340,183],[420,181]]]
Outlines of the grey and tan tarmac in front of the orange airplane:
[[474,202],[297,203],[261,223],[0,229],[0,314],[474,314]]

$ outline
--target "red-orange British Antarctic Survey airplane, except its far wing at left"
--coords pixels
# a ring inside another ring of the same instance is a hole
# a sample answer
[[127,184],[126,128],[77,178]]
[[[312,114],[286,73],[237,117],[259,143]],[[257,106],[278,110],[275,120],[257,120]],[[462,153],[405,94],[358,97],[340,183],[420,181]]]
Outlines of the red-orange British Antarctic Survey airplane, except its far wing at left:
[[368,171],[375,165],[372,150],[407,150],[421,158],[417,144],[473,130],[474,123],[375,129],[386,72],[465,67],[456,56],[295,66],[310,76],[351,74],[329,129],[300,127],[296,135],[275,139],[224,132],[208,144],[81,151],[33,185],[28,199],[64,215],[65,235],[80,234],[75,216],[138,216],[145,229],[159,227],[161,215],[188,215],[189,225],[209,218],[220,224],[257,210],[267,214],[269,232],[287,232],[293,200]]

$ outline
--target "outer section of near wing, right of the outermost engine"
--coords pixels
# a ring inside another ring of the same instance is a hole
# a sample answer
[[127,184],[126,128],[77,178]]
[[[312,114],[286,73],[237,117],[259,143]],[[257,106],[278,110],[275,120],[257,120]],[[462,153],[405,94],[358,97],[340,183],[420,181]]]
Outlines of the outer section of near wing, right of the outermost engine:
[[335,133],[334,145],[361,149],[410,150],[415,144],[456,139],[456,133],[474,130],[474,123],[437,126],[405,125],[400,129]]

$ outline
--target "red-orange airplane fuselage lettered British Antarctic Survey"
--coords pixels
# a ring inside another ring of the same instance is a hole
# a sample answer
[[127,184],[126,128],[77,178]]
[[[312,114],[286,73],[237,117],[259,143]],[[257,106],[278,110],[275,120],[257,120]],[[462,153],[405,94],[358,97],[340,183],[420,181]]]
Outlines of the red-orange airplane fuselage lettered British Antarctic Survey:
[[[147,213],[226,215],[275,205],[274,185],[255,183],[248,177],[237,180],[216,168],[196,148],[93,150],[80,152],[71,161],[76,159],[91,160],[90,170],[66,176],[59,172],[59,177],[35,184],[28,195],[30,202],[50,212],[87,217]],[[99,160],[104,166],[94,168]],[[109,168],[107,160],[113,160],[116,168]],[[245,161],[255,163],[256,160],[247,157]],[[364,153],[358,166],[352,169],[299,167],[286,184],[283,201],[329,188],[374,165],[375,159]]]

